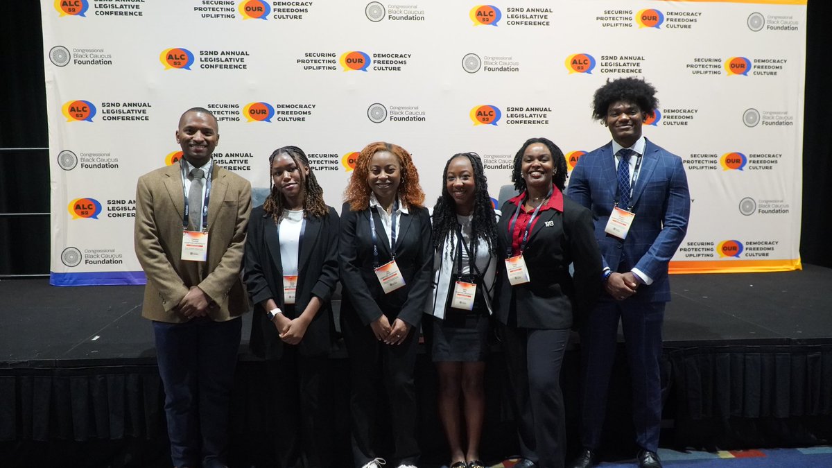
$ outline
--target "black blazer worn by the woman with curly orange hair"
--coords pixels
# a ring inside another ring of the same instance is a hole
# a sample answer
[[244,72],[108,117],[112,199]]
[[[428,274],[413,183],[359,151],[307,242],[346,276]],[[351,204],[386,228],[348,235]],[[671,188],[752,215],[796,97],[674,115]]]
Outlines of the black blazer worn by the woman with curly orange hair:
[[[379,213],[373,211],[379,239],[379,265],[391,260],[390,245]],[[354,212],[349,203],[341,209],[339,249],[344,297],[341,315],[358,314],[364,325],[382,313],[392,321],[400,318],[417,327],[431,288],[433,245],[430,217],[426,208],[409,207],[402,213],[396,232],[396,264],[405,286],[384,294],[373,269],[373,237],[369,230],[370,210]],[[418,331],[417,331],[418,332]]]

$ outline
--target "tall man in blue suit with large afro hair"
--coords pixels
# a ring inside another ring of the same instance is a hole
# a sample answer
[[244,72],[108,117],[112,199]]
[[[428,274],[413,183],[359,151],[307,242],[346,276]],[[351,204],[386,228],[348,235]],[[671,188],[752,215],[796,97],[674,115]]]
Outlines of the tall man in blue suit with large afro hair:
[[601,247],[605,293],[581,330],[583,450],[575,468],[597,465],[619,318],[633,394],[637,460],[661,467],[661,323],[670,301],[667,264],[685,237],[691,212],[681,158],[641,135],[658,106],[656,88],[637,78],[607,82],[595,92],[592,115],[612,142],[583,155],[567,196],[592,210]]

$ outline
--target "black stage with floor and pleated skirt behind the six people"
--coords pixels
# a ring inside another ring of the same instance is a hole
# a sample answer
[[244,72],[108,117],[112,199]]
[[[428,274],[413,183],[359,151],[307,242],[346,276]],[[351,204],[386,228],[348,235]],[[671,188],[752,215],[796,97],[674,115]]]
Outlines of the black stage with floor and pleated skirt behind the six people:
[[[676,275],[664,327],[662,446],[733,450],[832,441],[832,269]],[[142,286],[54,287],[0,281],[0,466],[171,466],[163,392]],[[231,426],[232,466],[256,466],[267,408],[263,362],[240,345]],[[578,450],[577,335],[562,386],[570,454]],[[339,453],[349,466],[346,353],[333,353]],[[517,451],[503,355],[487,371],[483,458]],[[607,460],[631,457],[629,382],[621,345],[607,416]],[[447,462],[436,377],[417,362],[424,466]]]

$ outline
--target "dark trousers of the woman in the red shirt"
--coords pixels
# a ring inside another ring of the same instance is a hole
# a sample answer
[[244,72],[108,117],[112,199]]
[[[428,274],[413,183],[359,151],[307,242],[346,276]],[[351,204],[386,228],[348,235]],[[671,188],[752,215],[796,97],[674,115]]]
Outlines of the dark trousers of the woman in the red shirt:
[[523,458],[540,468],[565,463],[566,419],[561,366],[569,329],[535,330],[500,324]]

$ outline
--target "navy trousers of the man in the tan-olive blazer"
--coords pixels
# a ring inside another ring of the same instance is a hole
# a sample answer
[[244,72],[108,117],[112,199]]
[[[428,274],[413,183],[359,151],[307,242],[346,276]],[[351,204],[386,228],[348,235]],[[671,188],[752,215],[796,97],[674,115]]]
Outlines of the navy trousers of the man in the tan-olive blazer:
[[225,466],[242,320],[153,322],[174,466]]

